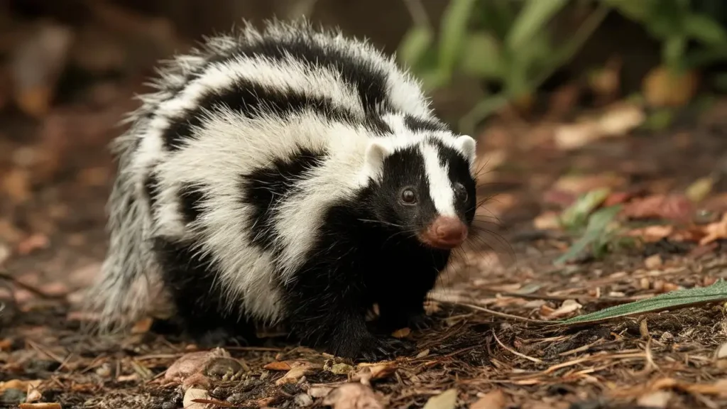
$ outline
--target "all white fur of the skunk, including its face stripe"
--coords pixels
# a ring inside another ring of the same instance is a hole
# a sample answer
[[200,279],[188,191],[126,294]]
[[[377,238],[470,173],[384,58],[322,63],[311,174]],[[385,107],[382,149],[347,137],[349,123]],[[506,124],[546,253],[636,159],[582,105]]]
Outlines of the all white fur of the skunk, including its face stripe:
[[[401,112],[383,118],[393,130],[392,135],[371,135],[363,126],[330,123],[312,111],[285,120],[273,115],[247,119],[232,111],[219,111],[206,113],[203,123],[195,130],[195,138],[186,140],[178,151],[165,151],[162,135],[175,119],[185,110],[195,108],[210,90],[225,90],[240,79],[281,92],[324,96],[353,114],[363,114],[358,93],[342,81],[340,74],[324,67],[311,68],[290,56],[281,61],[236,57],[226,63],[209,65],[196,79],[185,83],[185,77],[192,71],[198,72],[207,57],[228,53],[239,41],[297,38],[301,35],[299,28],[297,24],[276,22],[261,32],[247,25],[239,38],[207,39],[203,49],[169,62],[160,71],[160,79],[153,83],[156,92],[140,97],[142,108],[129,116],[132,128],[124,137],[126,156],[119,174],[123,186],[120,185],[111,202],[112,213],[116,215],[112,237],[116,241],[111,243],[101,284],[97,287],[102,290],[95,296],[95,300],[105,301],[107,317],[115,311],[119,314],[122,304],[130,304],[132,315],[137,317],[156,296],[151,287],[141,287],[140,295],[124,298],[113,277],[140,277],[143,270],[158,285],[156,264],[144,244],[145,239],[158,234],[200,243],[197,250],[211,256],[221,268],[218,284],[222,285],[230,309],[263,321],[278,321],[282,311],[277,282],[294,278],[294,272],[313,245],[326,208],[337,199],[350,197],[369,180],[378,180],[385,158],[402,148],[419,146],[438,212],[454,213],[454,192],[446,167],[439,165],[435,148],[422,144],[422,140],[438,138],[471,162],[475,154],[474,140],[466,136],[454,138],[449,132],[420,134],[408,130],[401,114],[434,119],[419,83],[398,68],[393,58],[384,57],[366,41],[348,39],[340,32],[320,31],[310,35],[310,39],[386,73],[389,103]],[[181,92],[172,97],[172,89],[182,86]],[[152,119],[145,119],[148,113],[153,113]],[[130,141],[134,138],[140,138],[140,146],[132,155]],[[292,156],[296,146],[326,150],[329,156],[300,183],[298,194],[281,201],[272,231],[260,228],[259,234],[272,236],[276,247],[281,249],[275,257],[252,246],[246,236],[251,209],[241,201],[240,175],[273,159]],[[149,209],[141,199],[145,175],[152,167],[156,169],[160,187],[154,219],[147,217]],[[206,196],[212,198],[203,204],[201,217],[189,225],[183,222],[177,204],[178,191],[184,183],[199,183]],[[132,212],[124,207],[126,196],[135,199]],[[136,247],[130,247],[133,245]],[[128,254],[131,260],[125,259]],[[278,277],[273,274],[275,271]]]

